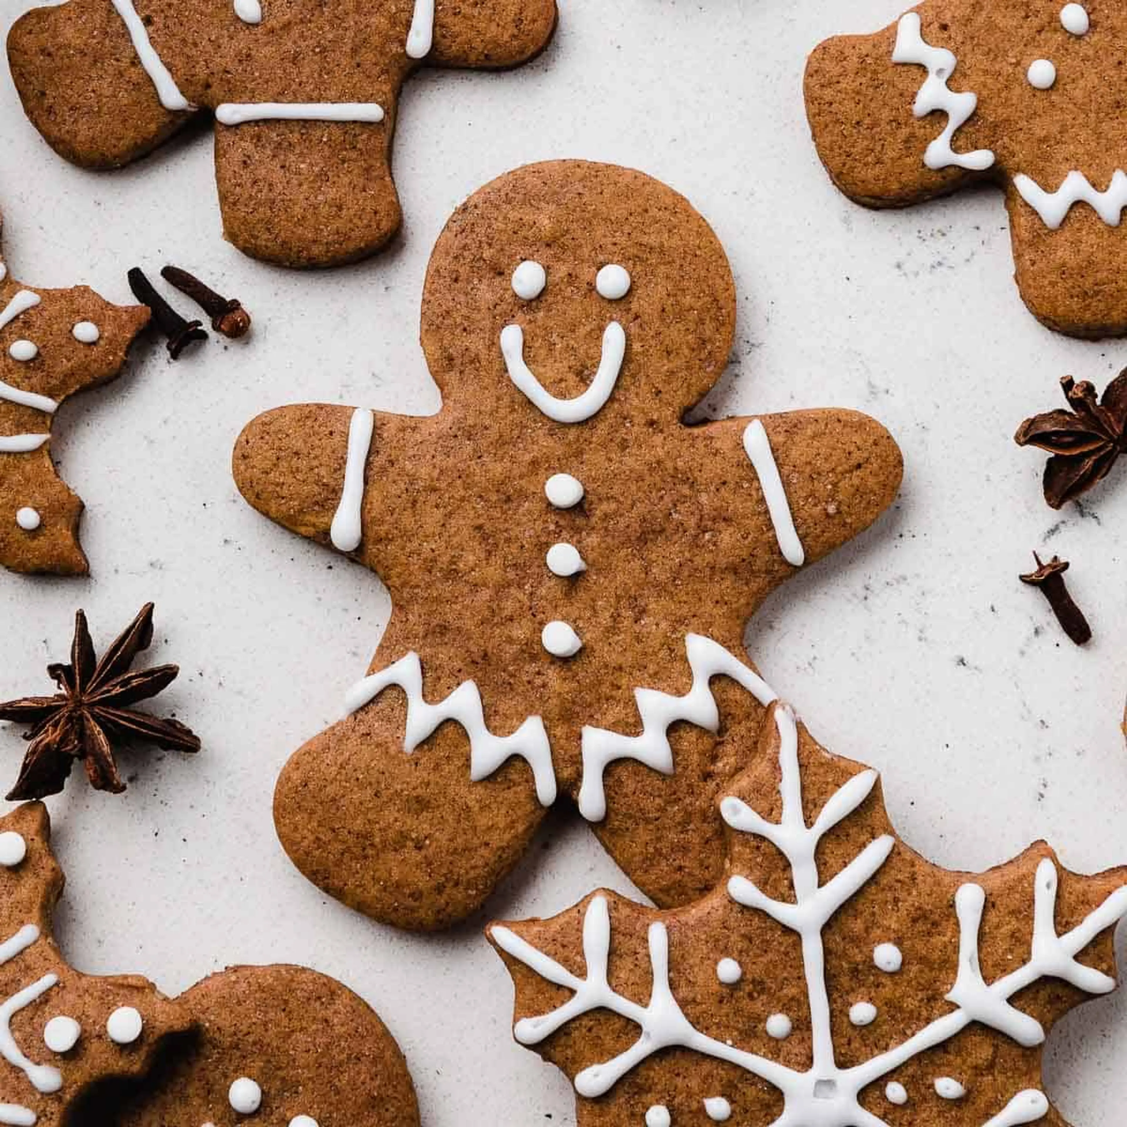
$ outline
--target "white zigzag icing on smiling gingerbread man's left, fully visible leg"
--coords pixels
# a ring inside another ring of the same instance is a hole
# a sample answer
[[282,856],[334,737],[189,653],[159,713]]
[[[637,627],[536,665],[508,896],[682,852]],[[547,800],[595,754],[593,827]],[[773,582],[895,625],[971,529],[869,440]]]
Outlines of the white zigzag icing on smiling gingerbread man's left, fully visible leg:
[[556,771],[552,749],[539,716],[530,716],[509,736],[495,736],[487,727],[481,708],[481,694],[472,681],[463,681],[444,701],[428,704],[423,696],[423,663],[411,653],[373,673],[354,685],[345,698],[350,713],[364,708],[390,685],[398,685],[407,694],[407,730],[403,751],[414,752],[446,720],[460,724],[470,739],[470,779],[488,779],[506,760],[518,755],[532,767],[536,798],[542,806],[556,801]]

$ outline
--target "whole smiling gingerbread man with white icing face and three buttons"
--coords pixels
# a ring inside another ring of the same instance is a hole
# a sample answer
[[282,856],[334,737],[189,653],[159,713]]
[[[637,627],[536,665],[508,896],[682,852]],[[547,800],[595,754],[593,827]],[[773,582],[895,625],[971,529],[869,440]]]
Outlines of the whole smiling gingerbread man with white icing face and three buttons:
[[724,250],[683,197],[535,165],[435,247],[437,415],[287,407],[243,432],[250,504],[352,553],[394,606],[348,718],[278,781],[278,834],[316,884],[379,920],[450,924],[560,796],[659,903],[716,881],[713,798],[774,699],[744,623],[900,479],[896,444],[853,411],[685,424],[734,325]]

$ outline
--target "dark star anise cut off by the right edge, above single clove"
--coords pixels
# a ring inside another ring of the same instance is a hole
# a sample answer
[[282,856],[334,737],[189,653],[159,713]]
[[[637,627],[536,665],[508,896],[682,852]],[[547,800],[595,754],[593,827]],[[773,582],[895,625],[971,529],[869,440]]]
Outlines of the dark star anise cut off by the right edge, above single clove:
[[1053,508],[1075,500],[1107,477],[1127,449],[1127,369],[1103,390],[1071,375],[1061,380],[1072,410],[1045,411],[1026,419],[1013,436],[1019,446],[1037,446],[1053,456],[1045,464],[1042,488]]

